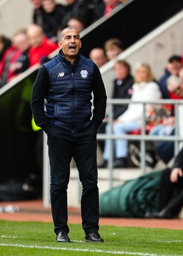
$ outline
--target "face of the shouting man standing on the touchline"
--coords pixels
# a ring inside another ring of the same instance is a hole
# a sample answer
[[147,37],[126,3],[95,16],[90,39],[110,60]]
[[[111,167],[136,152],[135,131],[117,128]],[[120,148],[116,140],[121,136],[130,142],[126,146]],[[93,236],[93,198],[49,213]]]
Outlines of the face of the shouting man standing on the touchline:
[[58,41],[58,46],[63,51],[65,58],[71,62],[76,60],[79,49],[81,48],[81,40],[76,29],[64,29],[62,31],[63,38]]

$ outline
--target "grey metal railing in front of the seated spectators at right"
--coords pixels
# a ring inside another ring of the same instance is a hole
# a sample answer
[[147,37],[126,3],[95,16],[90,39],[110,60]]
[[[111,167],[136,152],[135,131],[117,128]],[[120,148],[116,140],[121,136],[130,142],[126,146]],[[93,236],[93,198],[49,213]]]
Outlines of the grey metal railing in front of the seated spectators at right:
[[[133,134],[125,134],[125,135],[115,135],[112,134],[112,125],[113,125],[113,105],[116,104],[143,104],[143,124],[141,129],[141,134],[133,135]],[[154,136],[145,134],[145,105],[146,104],[175,104],[175,135],[173,136]],[[97,134],[97,140],[109,140],[109,161],[107,168],[109,169],[109,186],[113,187],[113,140],[116,139],[125,139],[125,140],[138,140],[140,141],[140,150],[142,152],[142,156],[145,156],[146,152],[146,141],[175,141],[175,155],[179,150],[179,142],[183,141],[183,136],[180,136],[179,132],[179,105],[183,105],[183,100],[173,100],[173,99],[159,99],[159,100],[151,100],[148,102],[141,101],[132,101],[131,99],[108,99],[107,100],[107,108],[109,109],[109,134]],[[145,157],[141,159],[141,173],[145,173]]]

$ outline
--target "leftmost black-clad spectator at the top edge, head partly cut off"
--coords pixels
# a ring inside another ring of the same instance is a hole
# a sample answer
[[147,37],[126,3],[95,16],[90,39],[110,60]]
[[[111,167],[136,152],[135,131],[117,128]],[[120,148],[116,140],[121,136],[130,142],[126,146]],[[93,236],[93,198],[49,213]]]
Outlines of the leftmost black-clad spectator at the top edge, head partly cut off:
[[45,12],[42,8],[42,0],[30,0],[30,2],[31,4],[33,4],[32,23],[35,23],[38,26],[43,27]]

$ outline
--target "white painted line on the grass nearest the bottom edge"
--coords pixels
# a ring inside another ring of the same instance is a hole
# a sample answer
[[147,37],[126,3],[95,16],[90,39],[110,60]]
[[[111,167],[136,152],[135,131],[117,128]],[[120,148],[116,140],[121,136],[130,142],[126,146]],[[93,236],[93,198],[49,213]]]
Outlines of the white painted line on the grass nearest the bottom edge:
[[[139,255],[139,256],[159,256],[154,253],[141,253],[141,252],[110,252],[103,250],[90,250],[90,249],[81,249],[81,248],[61,248],[61,247],[49,247],[49,246],[34,246],[34,245],[24,245],[24,244],[5,244],[0,243],[0,246],[10,246],[10,247],[19,247],[19,248],[33,248],[33,249],[49,249],[49,250],[61,250],[61,251],[72,251],[72,252],[96,252],[96,253],[111,253],[111,254],[128,254],[128,255]],[[167,255],[161,255],[167,256]],[[171,255],[175,256],[175,255]]]

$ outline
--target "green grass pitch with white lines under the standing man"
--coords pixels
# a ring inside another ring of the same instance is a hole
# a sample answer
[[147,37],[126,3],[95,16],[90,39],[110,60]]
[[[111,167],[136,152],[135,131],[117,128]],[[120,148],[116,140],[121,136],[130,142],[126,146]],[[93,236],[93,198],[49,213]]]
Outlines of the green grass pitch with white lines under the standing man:
[[183,255],[182,230],[100,226],[105,243],[85,243],[81,225],[69,228],[71,243],[57,243],[52,223],[0,221],[0,255]]

